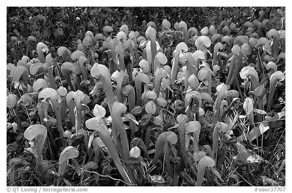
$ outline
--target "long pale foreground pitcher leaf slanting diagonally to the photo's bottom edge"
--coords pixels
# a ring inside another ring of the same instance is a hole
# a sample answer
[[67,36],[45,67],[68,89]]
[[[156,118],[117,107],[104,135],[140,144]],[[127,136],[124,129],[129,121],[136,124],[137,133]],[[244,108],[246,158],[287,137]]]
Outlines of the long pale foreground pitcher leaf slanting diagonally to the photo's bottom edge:
[[85,125],[90,130],[97,131],[98,136],[100,137],[100,139],[102,140],[106,148],[108,149],[108,154],[113,158],[115,165],[117,169],[119,170],[120,174],[122,175],[123,179],[125,180],[125,182],[131,183],[129,176],[127,175],[121,163],[121,160],[115,148],[113,139],[111,135],[109,135],[106,125],[104,124],[103,120],[99,117],[94,117],[85,121]]

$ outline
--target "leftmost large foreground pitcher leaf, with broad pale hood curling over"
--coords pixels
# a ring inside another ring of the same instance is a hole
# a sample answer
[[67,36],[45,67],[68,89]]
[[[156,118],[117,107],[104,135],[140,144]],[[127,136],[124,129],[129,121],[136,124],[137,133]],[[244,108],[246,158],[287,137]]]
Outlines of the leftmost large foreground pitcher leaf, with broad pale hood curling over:
[[[43,148],[47,138],[47,128],[42,124],[33,124],[29,126],[24,132],[24,138],[29,140],[36,165],[43,160]],[[34,141],[33,141],[34,139]]]

